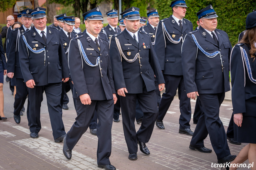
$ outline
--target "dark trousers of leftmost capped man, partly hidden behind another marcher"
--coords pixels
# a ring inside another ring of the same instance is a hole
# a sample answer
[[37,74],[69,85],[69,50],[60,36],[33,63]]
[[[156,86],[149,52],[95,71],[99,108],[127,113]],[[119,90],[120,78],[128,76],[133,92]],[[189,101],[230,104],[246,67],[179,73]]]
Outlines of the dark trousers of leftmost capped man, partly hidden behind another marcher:
[[[20,111],[24,106],[24,103],[27,99],[28,95],[28,87],[26,86],[24,79],[16,78],[16,95],[14,99],[14,115],[20,115]],[[27,107],[27,118],[28,118],[28,125],[30,125],[29,119],[29,100],[28,100],[28,107]]]

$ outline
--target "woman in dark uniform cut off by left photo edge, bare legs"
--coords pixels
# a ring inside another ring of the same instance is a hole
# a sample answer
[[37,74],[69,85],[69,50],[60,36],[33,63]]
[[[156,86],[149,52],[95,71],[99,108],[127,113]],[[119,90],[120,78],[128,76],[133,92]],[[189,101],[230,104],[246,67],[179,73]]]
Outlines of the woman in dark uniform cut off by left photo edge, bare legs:
[[6,75],[6,74],[7,74],[6,58],[4,55],[2,35],[0,34],[0,120],[7,119],[4,116],[4,93],[3,93],[4,75]]

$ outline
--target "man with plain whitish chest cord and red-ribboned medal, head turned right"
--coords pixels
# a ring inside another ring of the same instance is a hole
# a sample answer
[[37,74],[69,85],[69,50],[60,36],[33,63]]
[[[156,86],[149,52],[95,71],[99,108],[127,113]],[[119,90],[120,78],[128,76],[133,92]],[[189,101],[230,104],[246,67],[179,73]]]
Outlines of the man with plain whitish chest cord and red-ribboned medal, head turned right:
[[[110,54],[115,89],[120,95],[125,141],[130,160],[137,159],[138,144],[149,155],[149,142],[158,115],[154,75],[158,89],[164,89],[164,79],[149,34],[139,31],[139,8],[131,7],[122,13],[125,30],[112,36]],[[144,113],[136,132],[134,119],[136,99]]]

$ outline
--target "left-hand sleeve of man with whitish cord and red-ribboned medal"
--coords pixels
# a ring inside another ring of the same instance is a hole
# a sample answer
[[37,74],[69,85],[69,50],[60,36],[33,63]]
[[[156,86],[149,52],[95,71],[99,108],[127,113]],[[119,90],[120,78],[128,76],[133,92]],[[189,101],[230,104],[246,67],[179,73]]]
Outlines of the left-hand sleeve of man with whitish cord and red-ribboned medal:
[[126,88],[125,80],[123,76],[123,65],[120,57],[119,50],[115,41],[115,37],[111,37],[111,43],[109,48],[109,53],[111,54],[110,60],[112,64],[113,79],[115,83],[115,90],[120,88]]

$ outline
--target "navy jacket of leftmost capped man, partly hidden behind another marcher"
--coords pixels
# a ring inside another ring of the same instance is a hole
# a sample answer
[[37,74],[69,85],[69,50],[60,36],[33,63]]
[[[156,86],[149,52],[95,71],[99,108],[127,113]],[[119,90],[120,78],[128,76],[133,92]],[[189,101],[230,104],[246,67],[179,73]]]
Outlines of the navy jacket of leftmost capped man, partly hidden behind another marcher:
[[16,28],[10,32],[9,44],[8,44],[8,61],[7,61],[7,73],[14,73],[15,78],[23,79],[20,69],[20,58],[19,58],[19,46],[18,46],[18,31],[20,34],[24,33],[23,26]]

